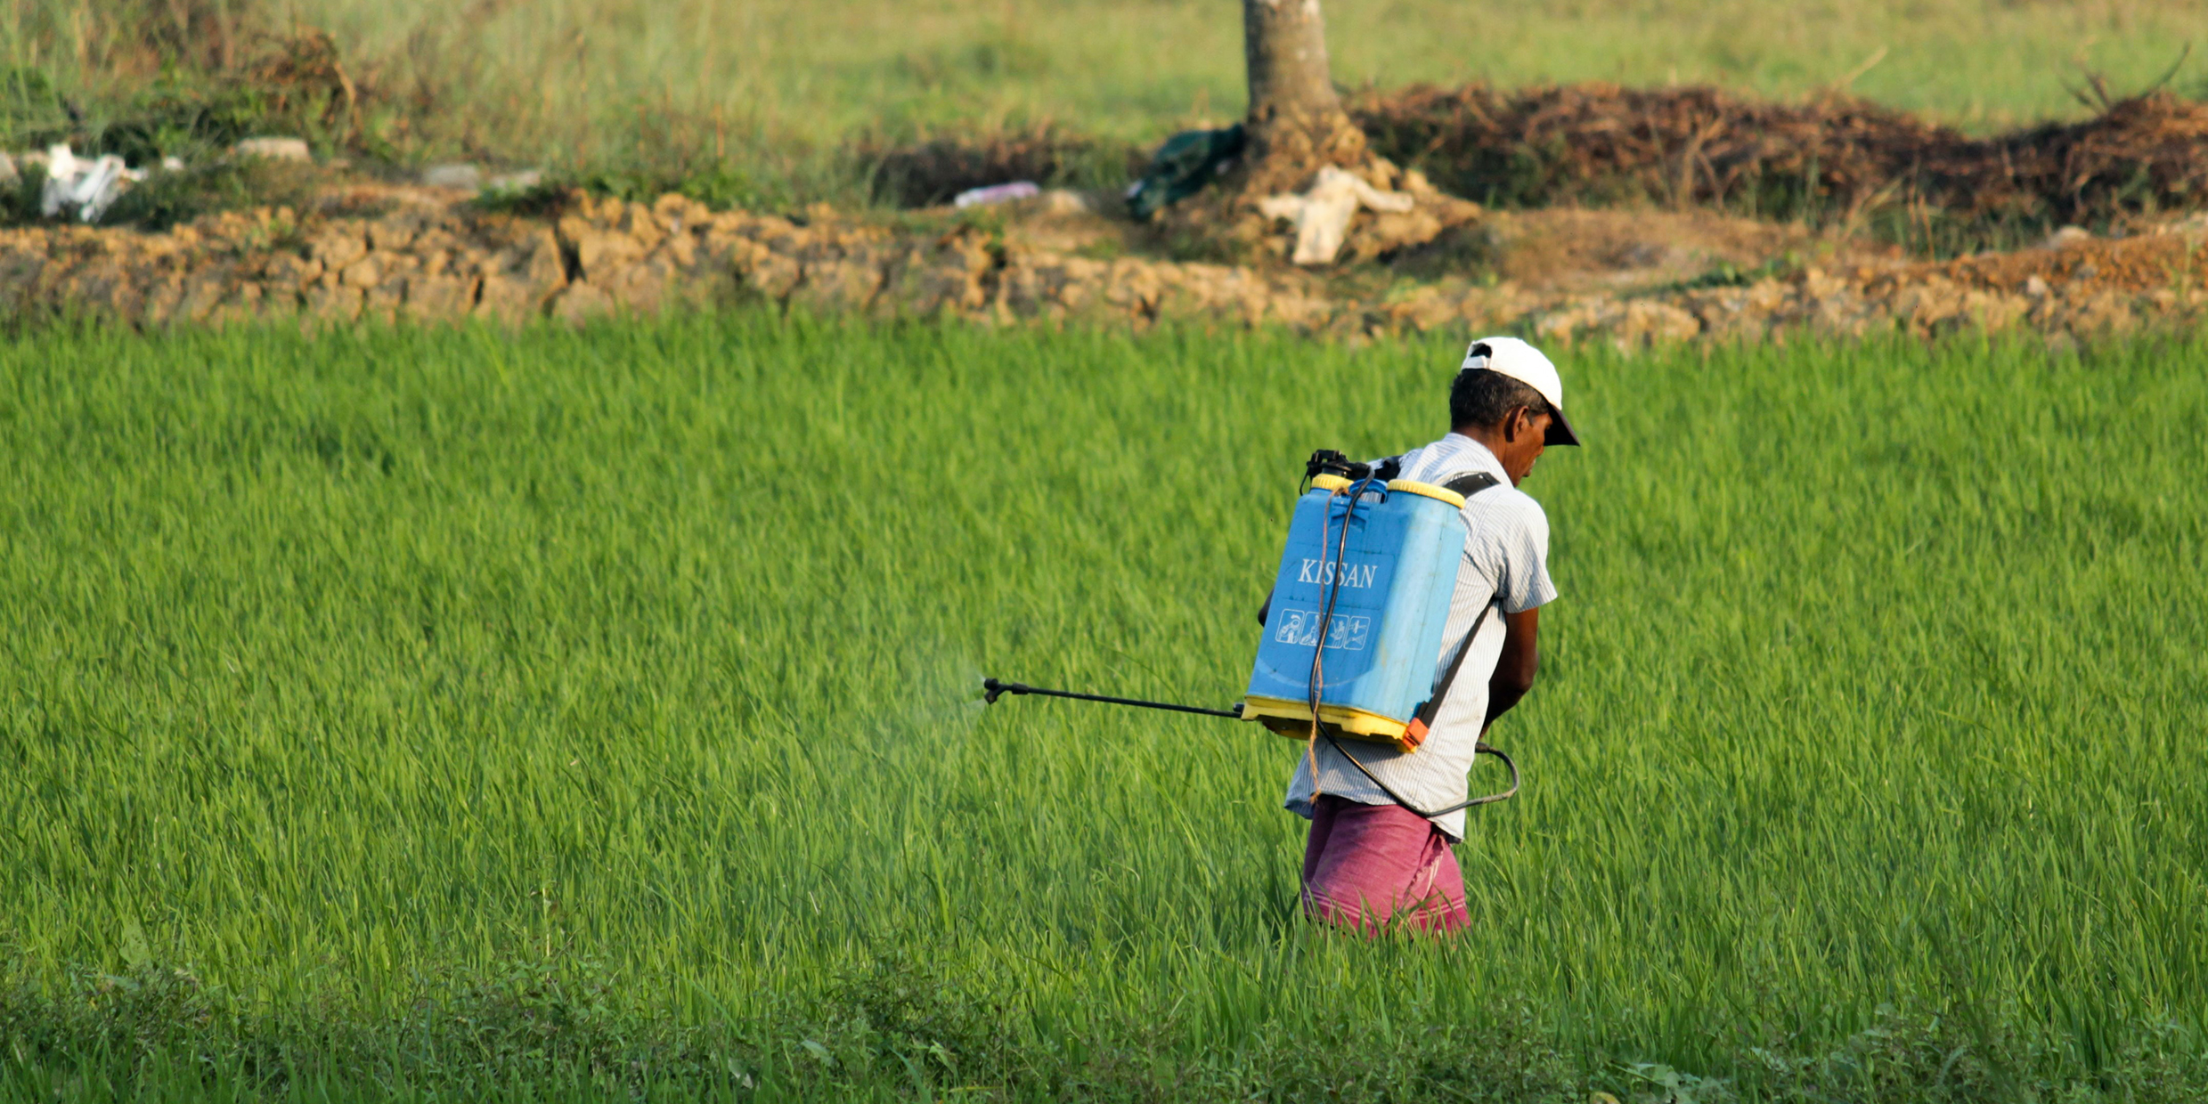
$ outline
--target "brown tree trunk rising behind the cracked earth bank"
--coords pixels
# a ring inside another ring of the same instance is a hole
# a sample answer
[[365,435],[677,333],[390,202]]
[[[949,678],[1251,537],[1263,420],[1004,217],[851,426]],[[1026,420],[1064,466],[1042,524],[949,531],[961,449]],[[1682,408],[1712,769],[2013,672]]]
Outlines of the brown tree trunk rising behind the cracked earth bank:
[[1243,60],[1250,66],[1245,190],[1296,190],[1320,166],[1365,159],[1365,132],[1349,121],[1327,73],[1318,0],[1243,0]]

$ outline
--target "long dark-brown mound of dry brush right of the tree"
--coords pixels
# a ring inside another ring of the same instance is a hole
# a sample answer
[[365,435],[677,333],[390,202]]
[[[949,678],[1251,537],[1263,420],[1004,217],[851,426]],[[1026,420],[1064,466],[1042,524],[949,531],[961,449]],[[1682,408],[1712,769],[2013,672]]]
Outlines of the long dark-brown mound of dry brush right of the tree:
[[1705,86],[1420,86],[1369,93],[1351,115],[1382,157],[1490,205],[1936,210],[2047,227],[2208,203],[2208,104],[2164,93],[1989,139],[1855,97],[1775,104]]

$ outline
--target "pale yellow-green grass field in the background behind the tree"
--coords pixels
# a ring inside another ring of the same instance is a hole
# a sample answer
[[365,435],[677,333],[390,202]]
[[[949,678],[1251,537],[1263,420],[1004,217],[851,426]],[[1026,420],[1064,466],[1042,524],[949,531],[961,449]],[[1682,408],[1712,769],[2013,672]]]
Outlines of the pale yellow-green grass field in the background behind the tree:
[[[1800,97],[1846,82],[1972,130],[2082,115],[2069,88],[2089,71],[2144,88],[2197,31],[2197,9],[2170,0],[1334,0],[1327,18],[1349,86],[1711,82]],[[265,35],[298,26],[342,44],[378,157],[667,179],[720,166],[762,203],[863,203],[839,155],[861,137],[1055,121],[1153,146],[1243,110],[1239,9],[1197,0],[475,0],[459,18],[426,0],[26,0],[0,15],[0,66],[75,95],[99,126],[179,75],[247,68]],[[2175,84],[2208,88],[2197,60]]]

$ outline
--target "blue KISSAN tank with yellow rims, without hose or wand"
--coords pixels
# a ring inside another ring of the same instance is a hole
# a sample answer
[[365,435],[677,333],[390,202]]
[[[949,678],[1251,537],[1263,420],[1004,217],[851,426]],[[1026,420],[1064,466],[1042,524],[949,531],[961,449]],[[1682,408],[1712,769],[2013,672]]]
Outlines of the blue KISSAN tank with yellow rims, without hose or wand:
[[[1415,751],[1424,729],[1411,718],[1433,691],[1464,559],[1464,497],[1409,479],[1354,488],[1351,497],[1349,479],[1318,475],[1296,499],[1243,720],[1309,737],[1318,651],[1318,720],[1327,731]],[[1334,616],[1325,618],[1329,592]]]

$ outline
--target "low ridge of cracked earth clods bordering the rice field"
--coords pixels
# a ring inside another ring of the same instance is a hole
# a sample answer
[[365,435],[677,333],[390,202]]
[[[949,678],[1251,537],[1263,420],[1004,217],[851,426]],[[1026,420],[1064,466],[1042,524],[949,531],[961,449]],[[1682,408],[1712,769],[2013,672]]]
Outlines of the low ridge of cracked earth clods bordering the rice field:
[[1007,247],[976,227],[896,230],[832,212],[711,212],[682,197],[583,201],[556,221],[402,208],[318,221],[225,214],[161,234],[0,232],[0,314],[93,314],[135,327],[464,320],[583,322],[609,314],[773,302],[868,318],[987,325],[1285,325],[1314,333],[1497,331],[1618,344],[1791,333],[1936,336],[2027,327],[2089,338],[2204,316],[2199,234],[2064,238],[2042,250],[1740,287],[1557,296],[1512,285],[1347,294],[1292,269],[1091,258]]

